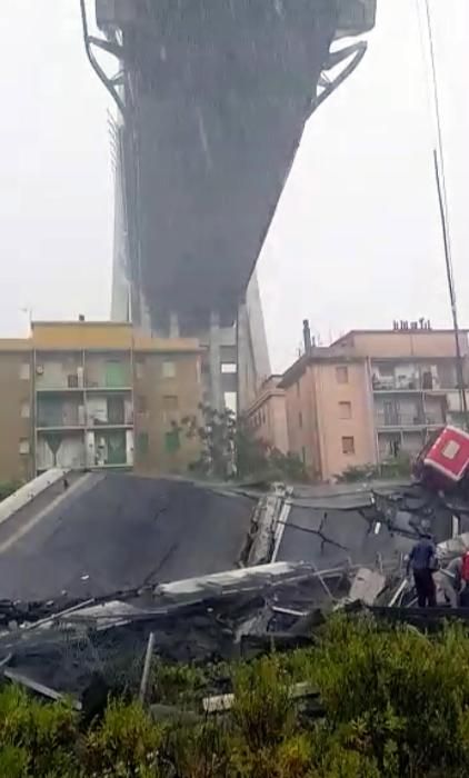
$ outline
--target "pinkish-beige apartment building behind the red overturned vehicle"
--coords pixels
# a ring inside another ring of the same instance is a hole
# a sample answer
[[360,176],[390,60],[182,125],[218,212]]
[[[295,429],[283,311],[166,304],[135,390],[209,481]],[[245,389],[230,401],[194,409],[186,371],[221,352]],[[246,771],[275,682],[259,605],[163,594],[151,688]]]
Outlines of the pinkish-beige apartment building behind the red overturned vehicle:
[[[468,373],[467,331],[460,348]],[[440,427],[461,423],[455,352],[451,330],[416,326],[357,330],[328,348],[311,346],[277,382],[288,450],[317,480],[418,453]],[[268,427],[257,433],[276,445]]]

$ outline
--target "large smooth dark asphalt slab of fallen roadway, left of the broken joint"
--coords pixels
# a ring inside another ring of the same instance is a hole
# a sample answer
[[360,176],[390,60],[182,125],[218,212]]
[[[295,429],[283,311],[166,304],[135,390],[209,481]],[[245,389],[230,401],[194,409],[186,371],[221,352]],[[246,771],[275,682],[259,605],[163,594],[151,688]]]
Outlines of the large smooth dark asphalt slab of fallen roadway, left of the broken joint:
[[[234,567],[252,500],[187,481],[90,479],[0,553],[0,598],[100,596]],[[0,542],[18,529],[7,523]]]

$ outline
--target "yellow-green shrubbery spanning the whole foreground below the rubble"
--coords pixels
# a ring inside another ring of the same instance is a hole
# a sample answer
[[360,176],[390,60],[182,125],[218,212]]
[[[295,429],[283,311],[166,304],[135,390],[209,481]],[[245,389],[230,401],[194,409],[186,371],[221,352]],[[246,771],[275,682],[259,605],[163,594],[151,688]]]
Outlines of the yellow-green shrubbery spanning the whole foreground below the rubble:
[[[367,618],[336,617],[310,650],[222,670],[160,665],[159,701],[197,709],[232,674],[229,715],[154,722],[112,701],[87,731],[67,705],[0,692],[0,776],[81,778],[400,778],[469,775],[469,637],[427,637]],[[309,719],[289,694],[309,681],[325,715]]]

